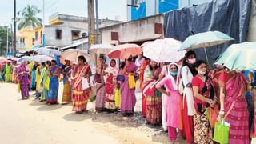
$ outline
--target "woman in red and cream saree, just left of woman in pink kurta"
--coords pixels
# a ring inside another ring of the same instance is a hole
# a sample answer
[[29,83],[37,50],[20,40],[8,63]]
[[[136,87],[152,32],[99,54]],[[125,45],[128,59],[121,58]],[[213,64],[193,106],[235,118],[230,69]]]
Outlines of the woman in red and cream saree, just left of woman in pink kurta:
[[146,123],[151,125],[160,124],[162,120],[162,94],[154,90],[154,83],[157,82],[160,68],[158,63],[151,61],[144,72],[144,90],[146,95]]

